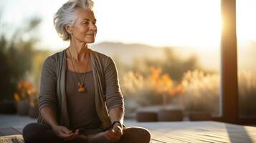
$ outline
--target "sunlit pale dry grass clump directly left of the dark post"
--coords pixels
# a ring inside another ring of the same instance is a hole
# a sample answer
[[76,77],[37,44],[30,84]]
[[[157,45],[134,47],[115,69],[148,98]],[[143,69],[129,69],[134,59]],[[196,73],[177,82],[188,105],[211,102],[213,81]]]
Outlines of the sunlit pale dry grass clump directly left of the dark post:
[[188,112],[219,114],[219,83],[219,74],[187,71],[182,80],[184,95],[179,98],[179,104]]

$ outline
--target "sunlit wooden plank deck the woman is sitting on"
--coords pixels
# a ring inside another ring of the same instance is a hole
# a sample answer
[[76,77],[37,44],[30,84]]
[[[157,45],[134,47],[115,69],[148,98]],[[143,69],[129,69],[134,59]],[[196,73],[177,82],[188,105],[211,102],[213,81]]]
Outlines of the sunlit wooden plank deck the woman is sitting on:
[[[127,126],[145,127],[152,134],[152,143],[165,142],[230,142],[251,143],[256,142],[256,127],[247,127],[221,122],[133,122]],[[11,134],[19,134],[16,142],[20,139],[22,127],[10,127],[0,129],[0,142],[10,138]],[[13,137],[13,136],[11,136]]]

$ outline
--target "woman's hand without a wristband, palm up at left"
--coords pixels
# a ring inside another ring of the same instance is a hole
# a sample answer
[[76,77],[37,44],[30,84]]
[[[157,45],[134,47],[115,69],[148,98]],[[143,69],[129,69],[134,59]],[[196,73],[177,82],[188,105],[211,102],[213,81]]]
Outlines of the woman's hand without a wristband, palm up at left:
[[65,141],[75,139],[79,135],[79,129],[76,129],[75,132],[72,132],[70,129],[67,129],[67,127],[64,126],[55,126],[52,129],[58,137],[61,137]]

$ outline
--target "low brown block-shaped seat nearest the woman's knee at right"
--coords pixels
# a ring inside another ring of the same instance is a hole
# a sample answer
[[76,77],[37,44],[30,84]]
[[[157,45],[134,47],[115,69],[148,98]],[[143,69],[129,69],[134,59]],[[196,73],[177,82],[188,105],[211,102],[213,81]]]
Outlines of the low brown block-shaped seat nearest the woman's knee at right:
[[136,113],[137,122],[157,122],[156,112],[140,111]]

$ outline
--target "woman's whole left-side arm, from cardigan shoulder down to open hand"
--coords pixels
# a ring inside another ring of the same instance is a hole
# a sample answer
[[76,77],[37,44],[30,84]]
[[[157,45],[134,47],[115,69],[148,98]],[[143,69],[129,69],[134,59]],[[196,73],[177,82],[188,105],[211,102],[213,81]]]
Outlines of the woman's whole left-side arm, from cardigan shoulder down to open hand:
[[79,132],[73,133],[67,127],[60,126],[57,122],[57,74],[56,62],[49,56],[45,61],[41,74],[41,87],[39,94],[39,112],[44,122],[52,127],[52,130],[58,137],[65,140],[71,140],[78,136]]

